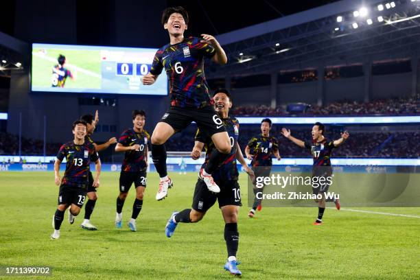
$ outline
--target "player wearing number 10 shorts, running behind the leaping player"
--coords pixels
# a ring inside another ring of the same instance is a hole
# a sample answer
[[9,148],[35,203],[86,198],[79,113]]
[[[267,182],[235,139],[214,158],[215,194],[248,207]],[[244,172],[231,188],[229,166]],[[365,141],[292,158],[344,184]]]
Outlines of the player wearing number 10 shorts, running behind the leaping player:
[[[231,272],[233,275],[242,275],[242,272],[237,269],[236,253],[239,244],[239,233],[237,231],[237,215],[241,204],[240,185],[237,183],[239,172],[237,171],[236,160],[240,161],[244,170],[248,173],[252,180],[255,179],[253,171],[250,170],[239,144],[237,138],[239,136],[239,123],[234,117],[229,117],[229,108],[232,107],[231,95],[225,89],[218,89],[215,91],[215,110],[223,121],[229,133],[232,150],[228,158],[222,163],[220,169],[213,172],[211,175],[220,186],[220,193],[214,194],[207,189],[205,182],[198,178],[196,189],[194,190],[194,198],[192,209],[184,209],[183,211],[172,213],[165,228],[167,237],[174,234],[178,222],[199,222],[204,217],[207,210],[209,210],[218,200],[219,208],[222,211],[224,218],[224,240],[228,251],[228,261],[224,265],[224,269]],[[196,142],[191,152],[193,159],[200,157],[202,148],[206,148],[206,159],[203,167],[209,163],[212,150],[215,149],[213,141],[209,135],[202,133],[200,129],[196,133]]]

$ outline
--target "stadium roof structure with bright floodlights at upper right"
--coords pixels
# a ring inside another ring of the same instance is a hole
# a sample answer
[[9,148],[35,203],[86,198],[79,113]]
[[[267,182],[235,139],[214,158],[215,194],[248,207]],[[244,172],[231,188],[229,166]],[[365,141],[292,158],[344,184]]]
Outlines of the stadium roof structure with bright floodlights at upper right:
[[209,78],[415,57],[419,0],[343,0],[217,36],[228,63]]

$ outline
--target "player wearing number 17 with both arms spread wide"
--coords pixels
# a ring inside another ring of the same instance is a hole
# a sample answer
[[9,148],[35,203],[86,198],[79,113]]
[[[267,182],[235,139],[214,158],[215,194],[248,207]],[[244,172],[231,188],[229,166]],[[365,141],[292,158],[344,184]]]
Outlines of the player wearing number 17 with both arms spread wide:
[[[325,126],[320,122],[316,122],[312,127],[312,141],[302,141],[292,137],[290,130],[283,128],[281,133],[295,143],[301,148],[310,150],[312,156],[314,157],[314,165],[312,167],[312,178],[325,178],[325,184],[320,185],[319,187],[314,187],[312,185],[313,194],[322,194],[323,198],[316,200],[318,202],[318,218],[316,218],[314,225],[318,226],[323,223],[323,215],[325,211],[325,193],[329,189],[329,183],[327,183],[327,178],[332,176],[332,166],[331,166],[331,153],[334,148],[342,145],[348,138],[349,132],[345,131],[341,133],[341,138],[337,140],[328,140],[324,137]],[[336,208],[340,210],[340,202],[334,199]]]

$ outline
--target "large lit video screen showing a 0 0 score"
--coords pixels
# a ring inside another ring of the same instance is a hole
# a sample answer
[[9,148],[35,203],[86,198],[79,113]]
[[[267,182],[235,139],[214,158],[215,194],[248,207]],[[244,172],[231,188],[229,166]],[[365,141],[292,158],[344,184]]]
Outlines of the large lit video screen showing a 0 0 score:
[[141,82],[157,49],[32,45],[32,91],[167,95],[165,71],[151,86]]

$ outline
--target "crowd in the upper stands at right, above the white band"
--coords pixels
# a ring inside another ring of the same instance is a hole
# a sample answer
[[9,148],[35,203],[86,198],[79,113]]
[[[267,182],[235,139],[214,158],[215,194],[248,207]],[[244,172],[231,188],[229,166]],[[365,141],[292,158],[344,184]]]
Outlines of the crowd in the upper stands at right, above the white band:
[[[325,106],[312,105],[297,115],[417,115],[420,114],[420,96],[401,97],[371,102],[355,102],[343,100]],[[237,106],[233,108],[235,116],[288,116],[285,106],[270,108],[269,106]],[[294,113],[296,115],[296,113]]]

